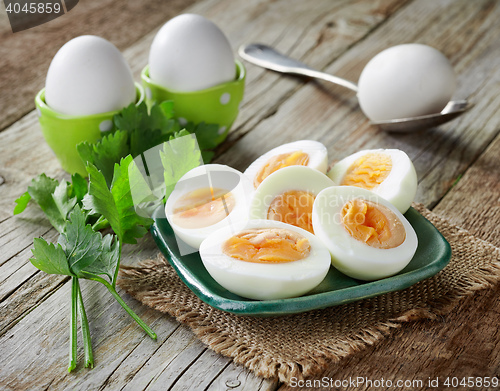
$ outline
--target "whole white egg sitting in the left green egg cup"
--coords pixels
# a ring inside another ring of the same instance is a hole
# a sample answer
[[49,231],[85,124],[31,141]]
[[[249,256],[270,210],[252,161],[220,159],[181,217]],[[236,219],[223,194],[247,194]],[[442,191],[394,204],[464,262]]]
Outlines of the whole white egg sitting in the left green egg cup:
[[92,115],[135,102],[132,71],[109,41],[83,35],[64,44],[50,63],[45,101],[58,113]]

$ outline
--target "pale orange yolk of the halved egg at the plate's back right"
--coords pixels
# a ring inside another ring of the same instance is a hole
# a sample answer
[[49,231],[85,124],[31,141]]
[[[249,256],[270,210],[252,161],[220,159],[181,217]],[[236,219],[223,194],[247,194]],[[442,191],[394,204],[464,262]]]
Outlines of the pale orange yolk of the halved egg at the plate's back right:
[[392,170],[392,159],[383,153],[367,153],[348,168],[341,186],[357,186],[372,190],[380,185]]

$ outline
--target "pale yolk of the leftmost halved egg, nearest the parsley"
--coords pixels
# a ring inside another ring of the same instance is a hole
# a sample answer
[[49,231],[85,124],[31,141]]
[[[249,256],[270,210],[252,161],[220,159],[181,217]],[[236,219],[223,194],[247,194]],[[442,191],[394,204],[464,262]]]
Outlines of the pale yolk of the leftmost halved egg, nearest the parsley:
[[234,196],[225,189],[196,189],[176,200],[172,222],[189,229],[208,227],[225,219],[234,204]]

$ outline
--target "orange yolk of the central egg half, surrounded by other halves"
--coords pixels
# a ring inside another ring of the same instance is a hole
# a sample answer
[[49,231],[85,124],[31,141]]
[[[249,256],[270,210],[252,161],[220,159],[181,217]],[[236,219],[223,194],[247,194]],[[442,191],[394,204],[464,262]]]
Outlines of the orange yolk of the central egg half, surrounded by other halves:
[[268,220],[282,221],[314,233],[312,206],[314,195],[307,191],[290,190],[277,196],[269,205]]

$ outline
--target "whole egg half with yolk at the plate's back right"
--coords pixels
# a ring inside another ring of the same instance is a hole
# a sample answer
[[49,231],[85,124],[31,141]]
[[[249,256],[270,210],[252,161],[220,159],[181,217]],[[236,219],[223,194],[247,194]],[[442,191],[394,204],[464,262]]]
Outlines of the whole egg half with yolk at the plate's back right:
[[371,190],[405,213],[417,193],[417,173],[399,149],[359,151],[336,163],[328,176],[341,186]]

